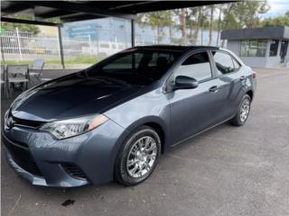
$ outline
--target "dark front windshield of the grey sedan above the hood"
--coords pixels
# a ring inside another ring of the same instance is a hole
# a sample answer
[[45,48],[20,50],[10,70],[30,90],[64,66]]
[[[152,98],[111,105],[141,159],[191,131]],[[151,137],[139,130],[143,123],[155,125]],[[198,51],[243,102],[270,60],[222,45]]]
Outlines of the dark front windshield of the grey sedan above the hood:
[[161,78],[181,55],[180,51],[126,49],[91,67],[89,76],[116,79],[131,85],[148,85]]

